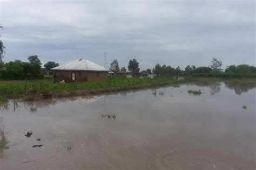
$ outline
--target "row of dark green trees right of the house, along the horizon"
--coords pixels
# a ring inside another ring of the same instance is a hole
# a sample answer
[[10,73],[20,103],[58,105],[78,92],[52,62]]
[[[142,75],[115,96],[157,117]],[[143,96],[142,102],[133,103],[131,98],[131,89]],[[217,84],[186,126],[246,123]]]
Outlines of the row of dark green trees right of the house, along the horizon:
[[[193,77],[256,77],[256,67],[249,65],[231,65],[227,66],[225,69],[222,69],[223,63],[220,60],[215,58],[212,59],[211,65],[208,67],[196,67],[194,65],[187,65],[184,70],[181,70],[180,67],[171,67],[166,65],[159,65],[159,63],[153,69],[146,69],[140,73],[147,73],[149,75],[154,74],[156,76],[193,76]],[[130,60],[128,69],[130,73],[139,72],[139,63],[136,59]],[[119,69],[119,64],[117,60],[114,60],[110,65],[110,70],[113,72],[124,71],[126,68],[123,67]]]

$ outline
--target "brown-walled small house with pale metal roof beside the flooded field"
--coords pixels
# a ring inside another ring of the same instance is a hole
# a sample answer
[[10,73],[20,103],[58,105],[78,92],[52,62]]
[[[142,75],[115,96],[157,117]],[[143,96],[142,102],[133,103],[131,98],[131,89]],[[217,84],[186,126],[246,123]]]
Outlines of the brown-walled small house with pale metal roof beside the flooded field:
[[89,60],[75,60],[65,65],[52,68],[56,81],[87,82],[105,81],[109,70]]

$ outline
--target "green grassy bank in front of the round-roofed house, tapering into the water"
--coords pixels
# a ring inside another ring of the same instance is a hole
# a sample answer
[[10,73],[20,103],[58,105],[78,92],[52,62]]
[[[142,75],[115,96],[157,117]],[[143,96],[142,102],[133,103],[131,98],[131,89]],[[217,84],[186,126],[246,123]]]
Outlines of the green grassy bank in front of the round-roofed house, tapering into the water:
[[33,101],[48,97],[100,94],[106,92],[142,89],[173,85],[183,82],[170,78],[124,78],[113,77],[104,82],[56,83],[44,79],[38,81],[0,81],[0,101],[8,98],[23,98]]

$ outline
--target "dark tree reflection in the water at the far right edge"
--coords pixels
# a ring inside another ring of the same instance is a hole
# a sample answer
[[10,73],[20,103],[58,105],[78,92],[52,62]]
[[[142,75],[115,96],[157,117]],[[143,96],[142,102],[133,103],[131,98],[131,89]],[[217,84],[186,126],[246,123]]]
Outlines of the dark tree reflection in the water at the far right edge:
[[255,80],[235,80],[235,81],[225,81],[225,86],[229,89],[233,89],[235,94],[241,95],[242,93],[247,93],[247,91],[256,88],[256,81]]

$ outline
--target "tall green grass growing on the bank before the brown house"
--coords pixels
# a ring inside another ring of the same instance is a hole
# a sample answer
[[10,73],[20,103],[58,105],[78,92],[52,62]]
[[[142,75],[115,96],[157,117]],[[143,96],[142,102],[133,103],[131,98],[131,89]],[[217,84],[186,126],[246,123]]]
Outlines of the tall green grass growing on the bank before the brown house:
[[113,77],[104,82],[75,82],[75,83],[56,83],[51,80],[38,81],[0,81],[0,97],[17,98],[23,95],[31,95],[36,93],[61,94],[71,93],[72,91],[86,90],[104,90],[116,87],[134,87],[150,84],[151,86],[159,86],[171,83],[178,83],[180,80],[170,78],[124,78]]

